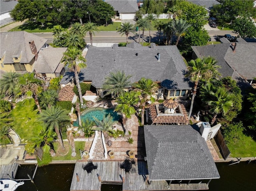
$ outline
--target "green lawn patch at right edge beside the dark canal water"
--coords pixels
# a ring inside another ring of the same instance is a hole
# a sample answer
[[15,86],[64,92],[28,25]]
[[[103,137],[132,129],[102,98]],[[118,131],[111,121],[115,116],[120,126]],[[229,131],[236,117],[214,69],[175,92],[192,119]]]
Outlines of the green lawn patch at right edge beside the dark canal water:
[[240,140],[227,144],[231,152],[230,157],[254,157],[256,155],[256,141],[244,135]]

